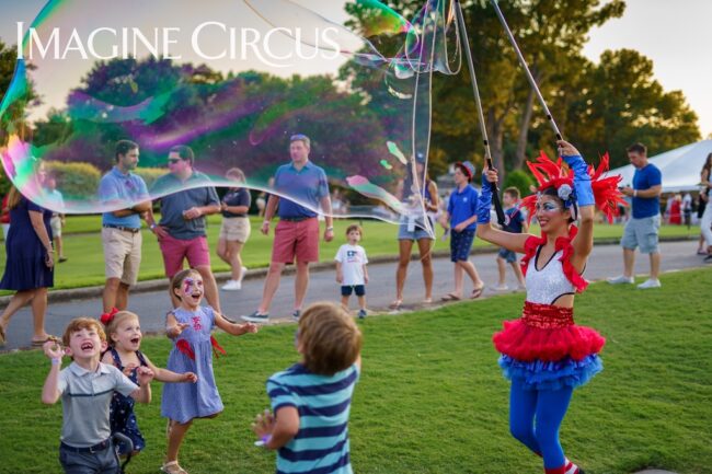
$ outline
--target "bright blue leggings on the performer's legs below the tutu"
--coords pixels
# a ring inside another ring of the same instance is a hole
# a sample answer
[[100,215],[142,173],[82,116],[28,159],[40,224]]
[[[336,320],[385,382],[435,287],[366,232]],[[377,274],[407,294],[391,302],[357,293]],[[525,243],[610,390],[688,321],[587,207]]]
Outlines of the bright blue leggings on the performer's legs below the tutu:
[[527,448],[543,456],[546,469],[564,465],[559,428],[569,409],[572,394],[571,386],[559,390],[525,390],[521,381],[512,381],[509,430],[512,436]]

